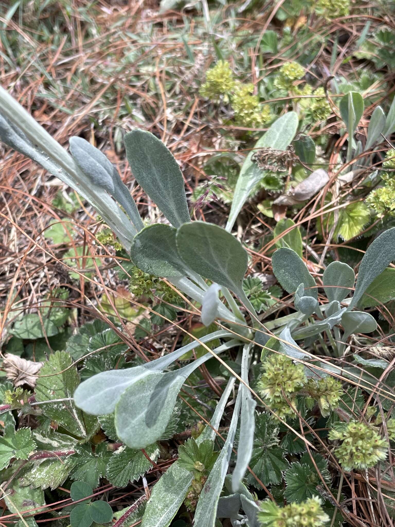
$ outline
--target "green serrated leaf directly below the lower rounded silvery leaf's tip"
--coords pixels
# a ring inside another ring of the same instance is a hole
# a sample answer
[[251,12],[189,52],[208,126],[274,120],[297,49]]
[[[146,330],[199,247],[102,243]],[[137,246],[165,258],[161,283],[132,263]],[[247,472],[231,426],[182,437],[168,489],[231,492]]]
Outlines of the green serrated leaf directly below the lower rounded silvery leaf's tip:
[[[153,462],[159,457],[159,447],[156,443],[148,445],[145,452]],[[108,461],[106,477],[114,487],[125,487],[130,481],[139,480],[151,468],[152,463],[141,450],[122,446]]]

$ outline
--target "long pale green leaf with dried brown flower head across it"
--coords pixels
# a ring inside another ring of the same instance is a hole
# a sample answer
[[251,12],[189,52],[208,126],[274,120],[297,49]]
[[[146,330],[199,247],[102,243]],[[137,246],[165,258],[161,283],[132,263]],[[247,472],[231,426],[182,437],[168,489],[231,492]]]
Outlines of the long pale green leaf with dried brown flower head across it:
[[255,143],[252,150],[246,157],[241,167],[239,178],[234,191],[232,207],[229,214],[226,230],[231,231],[241,211],[245,201],[250,196],[256,184],[262,179],[264,173],[258,168],[251,158],[259,148],[272,148],[274,150],[285,150],[291,144],[291,141],[298,128],[298,115],[295,112],[288,112],[279,117],[270,126],[269,130]]

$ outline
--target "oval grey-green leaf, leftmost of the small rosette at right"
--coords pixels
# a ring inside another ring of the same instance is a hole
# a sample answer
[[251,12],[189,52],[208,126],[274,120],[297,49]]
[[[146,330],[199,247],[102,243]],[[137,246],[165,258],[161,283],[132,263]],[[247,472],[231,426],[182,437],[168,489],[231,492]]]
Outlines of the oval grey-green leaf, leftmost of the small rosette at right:
[[303,260],[292,249],[281,247],[272,256],[274,276],[288,293],[294,293],[300,283],[304,285],[305,295],[317,299],[317,287]]

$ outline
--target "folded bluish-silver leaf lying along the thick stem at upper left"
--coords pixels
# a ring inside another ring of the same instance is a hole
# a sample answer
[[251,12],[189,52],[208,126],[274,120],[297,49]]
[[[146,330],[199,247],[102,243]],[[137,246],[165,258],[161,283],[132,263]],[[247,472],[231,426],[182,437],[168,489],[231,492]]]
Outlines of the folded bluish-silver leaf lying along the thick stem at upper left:
[[122,205],[136,230],[141,230],[144,224],[136,203],[110,160],[103,152],[81,137],[73,136],[68,142],[74,161],[82,172]]

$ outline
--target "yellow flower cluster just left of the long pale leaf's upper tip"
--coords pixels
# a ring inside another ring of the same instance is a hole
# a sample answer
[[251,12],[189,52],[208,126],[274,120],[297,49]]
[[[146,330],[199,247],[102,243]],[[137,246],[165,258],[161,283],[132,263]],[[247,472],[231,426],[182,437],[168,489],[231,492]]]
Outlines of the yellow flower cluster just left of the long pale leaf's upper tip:
[[258,95],[253,95],[253,92],[253,84],[238,83],[232,95],[236,121],[243,126],[259,126],[272,119],[269,106],[261,106]]

